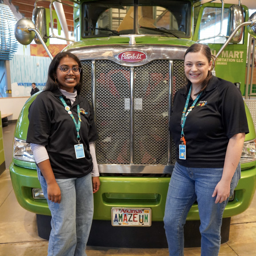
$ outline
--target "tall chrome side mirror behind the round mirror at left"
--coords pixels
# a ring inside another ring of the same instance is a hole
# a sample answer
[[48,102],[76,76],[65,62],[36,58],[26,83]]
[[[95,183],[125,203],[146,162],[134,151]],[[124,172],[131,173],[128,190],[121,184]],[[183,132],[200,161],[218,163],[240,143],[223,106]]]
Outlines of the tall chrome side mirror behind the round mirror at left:
[[[36,7],[33,10],[32,21],[34,22],[36,29],[42,35],[44,43],[47,42],[47,28],[46,28],[46,12],[44,7]],[[42,44],[38,36],[35,36],[36,44]]]

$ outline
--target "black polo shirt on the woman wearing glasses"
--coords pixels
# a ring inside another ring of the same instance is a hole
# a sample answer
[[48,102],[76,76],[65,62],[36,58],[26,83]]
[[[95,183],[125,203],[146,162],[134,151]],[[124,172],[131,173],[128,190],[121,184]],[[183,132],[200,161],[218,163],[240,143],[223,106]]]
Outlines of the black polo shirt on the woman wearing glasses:
[[[80,106],[80,144],[84,145],[84,158],[76,159],[74,145],[77,132],[74,121],[65,110],[59,96],[63,96],[78,122],[77,104]],[[41,92],[33,101],[28,113],[27,142],[45,145],[56,178],[82,177],[92,172],[89,142],[98,139],[94,115],[88,100],[77,95],[74,104],[59,90]]]

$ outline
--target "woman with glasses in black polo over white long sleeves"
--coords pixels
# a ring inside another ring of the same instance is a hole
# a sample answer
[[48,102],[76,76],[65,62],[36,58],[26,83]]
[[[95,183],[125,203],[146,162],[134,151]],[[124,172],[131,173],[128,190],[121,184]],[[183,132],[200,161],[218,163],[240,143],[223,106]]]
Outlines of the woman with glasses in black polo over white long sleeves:
[[86,256],[93,193],[100,187],[93,111],[80,96],[80,60],[60,52],[52,60],[46,86],[29,108],[27,142],[52,214],[48,255]]

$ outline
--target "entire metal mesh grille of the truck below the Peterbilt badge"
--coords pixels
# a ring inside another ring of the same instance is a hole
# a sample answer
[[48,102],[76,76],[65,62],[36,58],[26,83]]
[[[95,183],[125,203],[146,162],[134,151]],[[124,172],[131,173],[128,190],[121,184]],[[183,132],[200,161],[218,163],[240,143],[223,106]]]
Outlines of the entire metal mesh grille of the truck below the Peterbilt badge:
[[[81,95],[92,102],[92,62],[83,61]],[[131,164],[130,67],[95,61],[98,164]],[[133,164],[168,164],[169,60],[134,68]],[[172,99],[184,84],[183,61],[174,61]],[[171,162],[175,147],[171,143]]]

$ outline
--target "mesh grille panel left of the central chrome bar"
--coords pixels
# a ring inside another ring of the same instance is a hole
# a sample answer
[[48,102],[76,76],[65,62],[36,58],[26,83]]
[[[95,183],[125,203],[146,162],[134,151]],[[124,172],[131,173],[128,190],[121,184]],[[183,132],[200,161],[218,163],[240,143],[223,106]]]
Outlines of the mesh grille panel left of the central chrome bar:
[[100,164],[130,163],[130,69],[107,60],[95,62],[95,116]]

